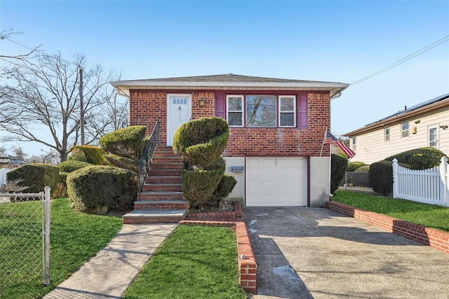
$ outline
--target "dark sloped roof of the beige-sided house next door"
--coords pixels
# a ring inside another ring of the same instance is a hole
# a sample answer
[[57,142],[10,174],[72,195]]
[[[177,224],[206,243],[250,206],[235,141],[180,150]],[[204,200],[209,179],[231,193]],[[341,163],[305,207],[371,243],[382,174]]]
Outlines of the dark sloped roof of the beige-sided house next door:
[[445,94],[445,95],[441,95],[439,97],[435,97],[434,99],[429,99],[426,102],[422,102],[420,104],[417,104],[415,106],[411,106],[410,108],[408,108],[407,106],[405,107],[404,110],[398,111],[394,114],[391,114],[390,116],[384,117],[380,120],[376,120],[373,123],[368,123],[368,125],[365,125],[364,127],[361,127],[357,130],[354,130],[352,132],[348,132],[346,134],[343,134],[343,136],[351,136],[354,135],[356,133],[360,133],[360,132],[365,132],[367,130],[373,129],[377,126],[380,125],[384,125],[386,123],[393,123],[397,120],[401,120],[402,118],[406,118],[412,114],[416,114],[416,113],[422,113],[422,111],[429,111],[429,109],[435,109],[436,106],[438,106],[440,103],[444,104],[443,101],[446,101],[448,103],[446,103],[446,105],[449,104],[449,93]]

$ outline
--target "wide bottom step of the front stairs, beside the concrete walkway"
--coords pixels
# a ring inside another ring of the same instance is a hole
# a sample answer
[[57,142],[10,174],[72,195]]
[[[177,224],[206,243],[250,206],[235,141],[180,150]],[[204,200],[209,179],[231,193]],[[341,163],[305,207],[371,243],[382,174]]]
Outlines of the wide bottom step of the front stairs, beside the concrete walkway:
[[178,223],[187,213],[187,209],[177,210],[135,210],[123,215],[124,224]]

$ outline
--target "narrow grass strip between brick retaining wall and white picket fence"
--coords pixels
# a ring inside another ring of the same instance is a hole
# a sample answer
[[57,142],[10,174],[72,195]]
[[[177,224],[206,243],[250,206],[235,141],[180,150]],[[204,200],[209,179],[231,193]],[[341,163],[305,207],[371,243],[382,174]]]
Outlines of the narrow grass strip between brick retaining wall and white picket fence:
[[338,190],[333,201],[449,232],[449,208]]

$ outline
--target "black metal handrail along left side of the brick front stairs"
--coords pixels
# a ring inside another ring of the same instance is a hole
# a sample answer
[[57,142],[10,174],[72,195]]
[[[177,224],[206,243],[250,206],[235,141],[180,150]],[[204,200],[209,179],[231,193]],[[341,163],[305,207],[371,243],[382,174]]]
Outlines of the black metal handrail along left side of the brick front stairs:
[[139,161],[138,183],[135,186],[138,193],[138,200],[140,200],[140,194],[142,193],[145,179],[147,179],[149,167],[152,165],[152,158],[154,156],[154,152],[156,151],[156,147],[159,145],[160,141],[161,139],[159,134],[159,121],[158,121],[156,122],[156,125],[154,125],[153,132],[149,137],[149,141],[145,146],[145,151],[143,152],[143,155]]

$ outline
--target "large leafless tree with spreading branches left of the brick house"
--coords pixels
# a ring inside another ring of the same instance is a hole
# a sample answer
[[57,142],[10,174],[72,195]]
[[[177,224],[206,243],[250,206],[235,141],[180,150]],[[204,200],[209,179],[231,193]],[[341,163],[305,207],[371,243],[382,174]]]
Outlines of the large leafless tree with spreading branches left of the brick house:
[[87,69],[82,55],[67,61],[57,53],[36,57],[32,63],[12,62],[0,74],[6,77],[0,86],[6,98],[0,109],[0,130],[9,133],[2,141],[36,141],[57,151],[61,161],[67,160],[81,139],[79,68],[83,69],[86,144],[112,132],[114,120],[106,115],[115,94],[109,82],[119,80],[119,74],[99,65]]

